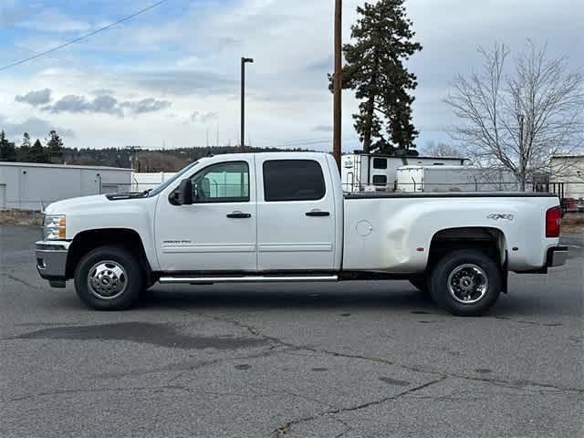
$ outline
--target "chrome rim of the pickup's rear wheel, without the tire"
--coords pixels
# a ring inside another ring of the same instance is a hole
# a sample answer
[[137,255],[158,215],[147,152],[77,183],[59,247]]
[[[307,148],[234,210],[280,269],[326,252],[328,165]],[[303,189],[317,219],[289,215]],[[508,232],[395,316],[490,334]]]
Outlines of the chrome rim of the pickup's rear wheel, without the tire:
[[459,303],[474,304],[485,297],[489,280],[481,266],[457,266],[448,276],[448,291]]

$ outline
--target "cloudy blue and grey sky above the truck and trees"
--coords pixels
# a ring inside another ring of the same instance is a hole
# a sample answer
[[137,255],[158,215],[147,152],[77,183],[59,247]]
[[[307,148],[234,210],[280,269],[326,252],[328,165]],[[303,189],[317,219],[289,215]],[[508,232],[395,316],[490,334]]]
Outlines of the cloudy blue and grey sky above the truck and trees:
[[[155,0],[1,0],[0,68],[107,26]],[[343,2],[343,39],[361,1]],[[455,74],[480,67],[479,46],[527,38],[584,66],[581,0],[408,0],[416,40],[408,63],[416,144],[449,141],[443,103]],[[19,142],[57,130],[69,147],[177,148],[239,137],[240,57],[246,67],[246,141],[332,149],[333,0],[168,0],[25,64],[0,69],[0,129]],[[343,92],[343,150],[360,144]]]

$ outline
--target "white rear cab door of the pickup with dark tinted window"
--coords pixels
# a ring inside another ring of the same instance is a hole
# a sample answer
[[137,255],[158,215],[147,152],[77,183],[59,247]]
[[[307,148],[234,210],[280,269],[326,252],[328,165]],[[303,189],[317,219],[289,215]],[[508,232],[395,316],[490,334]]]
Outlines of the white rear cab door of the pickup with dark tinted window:
[[255,160],[258,271],[332,269],[339,213],[325,157]]

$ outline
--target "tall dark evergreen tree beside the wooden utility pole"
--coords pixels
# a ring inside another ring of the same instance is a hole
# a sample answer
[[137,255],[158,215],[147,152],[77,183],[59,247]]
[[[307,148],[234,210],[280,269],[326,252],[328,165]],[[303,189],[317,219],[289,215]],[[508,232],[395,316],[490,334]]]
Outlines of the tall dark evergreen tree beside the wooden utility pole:
[[[353,119],[365,152],[415,148],[418,131],[412,124],[414,98],[409,91],[418,84],[403,62],[422,46],[412,41],[415,33],[404,1],[380,0],[358,6],[359,19],[351,27],[355,42],[343,47],[347,62],[343,88],[354,89],[360,100]],[[328,78],[332,87],[332,76]]]

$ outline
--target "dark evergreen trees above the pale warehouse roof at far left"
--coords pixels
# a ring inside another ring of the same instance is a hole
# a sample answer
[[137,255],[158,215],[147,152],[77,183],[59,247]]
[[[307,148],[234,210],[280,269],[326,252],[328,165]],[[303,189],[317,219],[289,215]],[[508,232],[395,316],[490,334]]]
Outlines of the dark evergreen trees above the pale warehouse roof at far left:
[[0,131],[0,162],[59,162],[62,153],[63,140],[56,130],[48,133],[45,144],[39,139],[31,143],[25,132],[19,145],[9,141],[4,130]]

